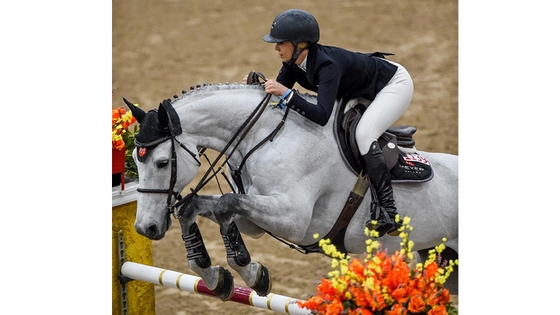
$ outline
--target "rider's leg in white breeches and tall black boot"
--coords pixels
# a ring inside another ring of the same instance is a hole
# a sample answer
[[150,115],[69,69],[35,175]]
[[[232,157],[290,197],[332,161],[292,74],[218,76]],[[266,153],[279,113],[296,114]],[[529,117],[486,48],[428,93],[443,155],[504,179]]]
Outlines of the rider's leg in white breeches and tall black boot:
[[398,225],[394,221],[397,208],[393,199],[393,187],[391,174],[387,168],[385,157],[379,147],[377,140],[397,119],[404,113],[414,91],[414,85],[410,75],[404,67],[398,66],[398,70],[389,83],[376,95],[375,100],[369,105],[363,114],[356,128],[356,139],[358,148],[365,162],[366,172],[370,183],[377,194],[379,206],[385,211],[379,211],[379,216],[375,216],[375,209],[372,209],[371,220],[366,226],[371,226],[371,221],[376,220],[376,230],[379,236],[389,232],[394,232]]

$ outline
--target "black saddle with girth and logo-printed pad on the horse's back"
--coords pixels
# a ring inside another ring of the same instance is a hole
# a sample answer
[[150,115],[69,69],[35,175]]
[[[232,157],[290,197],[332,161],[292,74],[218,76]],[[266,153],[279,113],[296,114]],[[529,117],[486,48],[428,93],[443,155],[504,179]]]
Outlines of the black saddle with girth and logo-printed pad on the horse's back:
[[[369,185],[365,175],[364,161],[356,142],[356,126],[366,108],[353,99],[343,101],[335,113],[334,133],[340,153],[348,167],[358,176],[333,228],[324,237],[330,239],[331,244],[335,245],[341,253],[347,252],[344,246],[346,228],[362,203],[368,187],[375,197],[373,187]],[[393,182],[426,182],[434,176],[429,161],[416,151],[413,139],[415,132],[416,128],[412,126],[394,126],[387,129],[378,139]],[[300,247],[306,252],[323,253],[318,242]]]

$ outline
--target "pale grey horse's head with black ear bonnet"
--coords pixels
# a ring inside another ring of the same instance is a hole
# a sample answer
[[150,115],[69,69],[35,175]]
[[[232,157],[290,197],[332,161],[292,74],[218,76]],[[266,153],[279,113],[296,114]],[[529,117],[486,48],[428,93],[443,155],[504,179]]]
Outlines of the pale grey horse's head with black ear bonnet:
[[199,155],[196,145],[182,133],[169,100],[163,101],[158,110],[147,113],[126,99],[125,102],[140,124],[132,153],[138,166],[138,203],[150,209],[138,211],[134,226],[141,235],[158,240],[171,226],[171,207],[198,172]]

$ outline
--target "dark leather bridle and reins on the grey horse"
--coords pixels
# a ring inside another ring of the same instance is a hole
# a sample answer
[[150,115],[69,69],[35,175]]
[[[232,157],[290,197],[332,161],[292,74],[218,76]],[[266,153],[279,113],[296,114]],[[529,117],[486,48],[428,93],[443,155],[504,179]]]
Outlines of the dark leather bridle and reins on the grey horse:
[[[256,74],[252,74],[253,75],[253,79],[257,78],[264,78],[264,76],[262,74],[256,73]],[[250,73],[251,76],[251,73]],[[262,84],[260,82],[257,82],[259,84]],[[211,163],[210,167],[208,168],[208,170],[206,171],[206,173],[204,174],[204,176],[202,177],[202,179],[199,181],[199,183],[197,184],[197,186],[194,189],[191,189],[191,193],[189,193],[187,196],[183,197],[181,195],[180,192],[178,191],[174,191],[174,187],[175,187],[175,183],[177,182],[177,152],[176,152],[176,148],[175,148],[175,142],[177,142],[179,144],[179,146],[181,148],[183,148],[184,150],[186,150],[195,160],[196,163],[198,163],[198,166],[200,167],[202,164],[200,162],[200,160],[197,158],[197,154],[195,154],[194,152],[192,152],[191,150],[189,150],[184,144],[182,144],[179,140],[177,140],[177,136],[175,134],[171,134],[169,136],[160,138],[156,141],[150,142],[150,143],[139,143],[135,140],[135,144],[137,147],[141,146],[141,147],[155,147],[167,140],[171,140],[171,178],[169,180],[169,188],[168,189],[147,189],[147,188],[138,188],[137,191],[139,193],[158,193],[158,194],[167,194],[167,205],[166,205],[166,209],[168,211],[169,214],[173,214],[173,216],[178,219],[183,215],[183,212],[185,211],[186,207],[188,206],[188,203],[190,202],[190,200],[192,200],[192,198],[194,196],[197,195],[197,193],[213,178],[216,176],[216,174],[218,173],[217,171],[215,171],[215,166],[218,162],[218,160],[225,155],[225,153],[227,152],[227,150],[230,148],[230,146],[232,146],[235,142],[235,140],[237,140],[237,143],[234,145],[233,149],[232,149],[232,153],[236,150],[237,146],[239,146],[239,144],[241,143],[241,141],[243,140],[243,138],[247,135],[247,133],[249,132],[249,130],[254,126],[255,122],[260,118],[261,114],[263,113],[264,109],[266,108],[266,104],[269,103],[270,98],[271,98],[271,94],[266,94],[264,96],[264,98],[261,100],[261,102],[257,105],[257,107],[255,108],[255,110],[253,110],[253,112],[249,115],[249,117],[247,117],[247,119],[245,120],[245,122],[241,125],[241,127],[237,130],[237,132],[233,135],[233,137],[230,139],[230,141],[226,144],[226,146],[224,147],[224,149],[220,152],[220,154],[214,159],[214,162]],[[234,171],[234,174],[232,174],[232,177],[234,178],[238,189],[240,189],[241,193],[244,193],[243,190],[243,184],[241,182],[241,169],[242,167],[245,165],[245,161],[246,159],[260,146],[262,146],[264,143],[266,143],[266,141],[272,141],[274,136],[276,135],[276,133],[278,133],[278,131],[281,129],[281,127],[283,126],[285,120],[286,120],[286,116],[288,115],[288,107],[286,107],[286,111],[284,113],[284,116],[282,117],[282,120],[280,121],[280,123],[278,124],[278,126],[265,138],[263,139],[261,142],[259,142],[243,159],[240,167]],[[171,124],[171,122],[169,122],[169,124]],[[168,130],[170,130],[170,132],[172,133],[173,128],[171,128],[172,126],[169,126]],[[206,148],[201,148],[198,151],[198,156],[204,154],[204,151],[206,150]],[[225,161],[223,162],[223,164],[219,167],[219,170],[223,169],[224,164],[226,164],[229,160],[229,156],[225,157]],[[229,165],[229,164],[228,164]],[[212,173],[212,174],[211,174]],[[224,176],[225,177],[225,176]],[[227,178],[226,178],[227,180]],[[228,184],[230,185],[230,187],[232,188],[232,191],[235,191],[235,189],[233,188],[233,185],[229,182],[229,180],[227,181]],[[175,202],[173,202],[173,198],[175,198]]]

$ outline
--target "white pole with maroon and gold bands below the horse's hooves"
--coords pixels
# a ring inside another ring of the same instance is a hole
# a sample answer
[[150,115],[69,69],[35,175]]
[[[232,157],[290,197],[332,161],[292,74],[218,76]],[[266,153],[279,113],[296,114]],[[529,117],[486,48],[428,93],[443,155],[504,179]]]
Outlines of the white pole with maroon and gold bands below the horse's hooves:
[[[127,278],[163,285],[169,288],[176,288],[183,291],[216,297],[216,295],[206,287],[204,280],[200,277],[180,273],[177,271],[166,270],[152,267],[135,262],[125,262],[121,267],[121,274]],[[300,308],[297,299],[270,293],[267,296],[259,296],[250,288],[235,285],[232,302],[246,304],[282,314],[311,314],[310,310]]]

